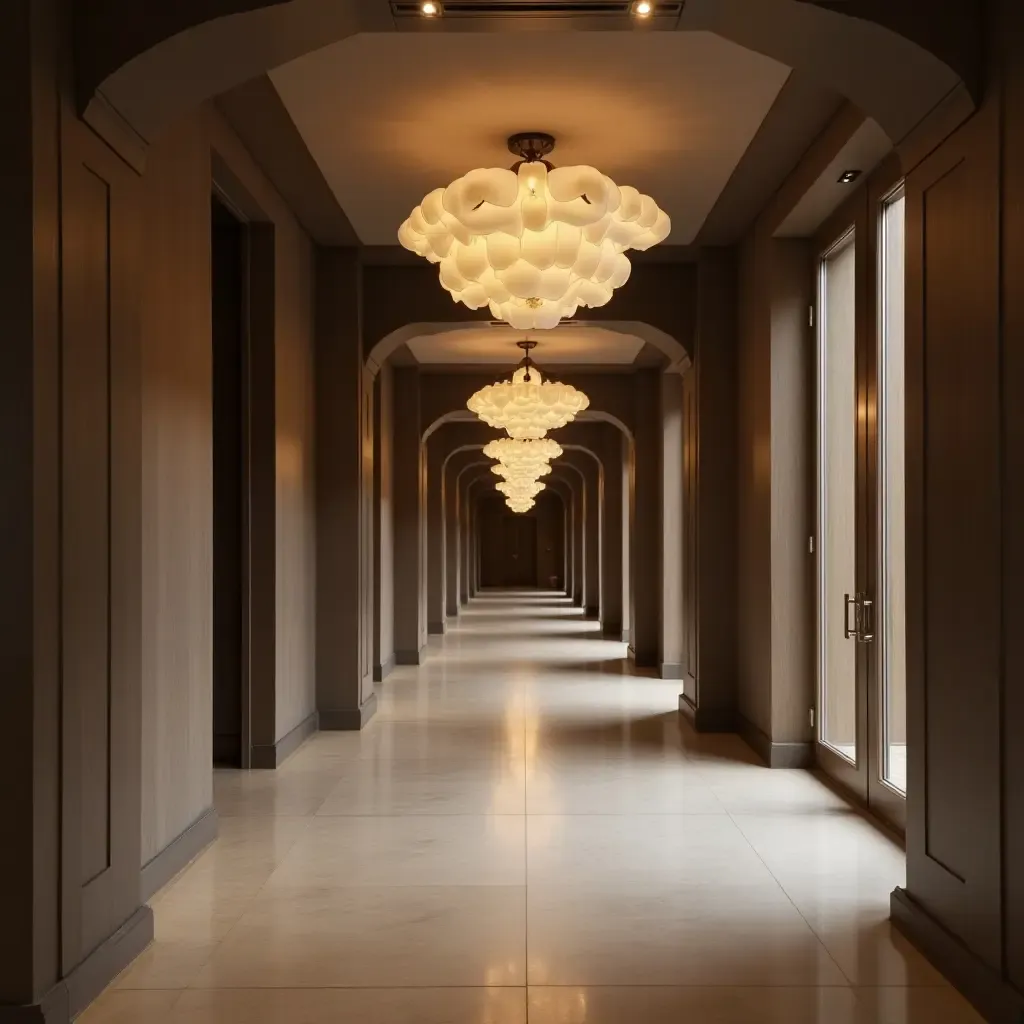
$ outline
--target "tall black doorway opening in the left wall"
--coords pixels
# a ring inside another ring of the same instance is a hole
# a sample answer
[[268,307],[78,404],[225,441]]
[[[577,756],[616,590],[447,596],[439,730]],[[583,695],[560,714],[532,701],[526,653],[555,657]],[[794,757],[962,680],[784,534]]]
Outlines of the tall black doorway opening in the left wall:
[[211,200],[213,338],[213,763],[241,768],[246,749],[245,223]]

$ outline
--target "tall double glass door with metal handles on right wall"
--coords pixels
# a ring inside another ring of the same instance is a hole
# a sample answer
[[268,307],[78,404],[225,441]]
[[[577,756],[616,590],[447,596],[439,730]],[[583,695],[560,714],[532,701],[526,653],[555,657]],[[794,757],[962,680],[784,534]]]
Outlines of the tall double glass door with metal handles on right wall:
[[817,260],[817,762],[897,828],[906,799],[903,194]]

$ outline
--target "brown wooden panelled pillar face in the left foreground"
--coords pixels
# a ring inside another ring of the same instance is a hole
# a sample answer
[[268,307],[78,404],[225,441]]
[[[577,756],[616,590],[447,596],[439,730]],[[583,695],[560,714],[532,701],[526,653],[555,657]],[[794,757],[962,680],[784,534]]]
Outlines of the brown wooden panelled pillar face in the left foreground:
[[63,133],[62,943],[70,971],[138,906],[138,179]]

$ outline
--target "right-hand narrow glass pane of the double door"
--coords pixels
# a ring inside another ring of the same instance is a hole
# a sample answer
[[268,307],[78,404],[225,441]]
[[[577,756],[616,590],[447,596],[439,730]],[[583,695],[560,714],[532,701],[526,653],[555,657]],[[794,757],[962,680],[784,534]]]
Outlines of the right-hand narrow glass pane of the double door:
[[882,207],[879,281],[879,580],[882,777],[906,793],[904,193]]

